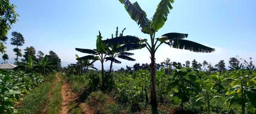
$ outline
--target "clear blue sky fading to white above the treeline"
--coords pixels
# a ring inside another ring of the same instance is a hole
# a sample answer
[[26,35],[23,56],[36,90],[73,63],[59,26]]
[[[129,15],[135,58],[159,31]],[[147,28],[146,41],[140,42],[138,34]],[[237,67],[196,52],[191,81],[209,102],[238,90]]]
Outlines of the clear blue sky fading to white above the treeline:
[[[130,0],[132,3],[136,0]],[[150,19],[160,0],[137,0]],[[62,65],[75,63],[75,48],[96,48],[96,35],[100,30],[103,39],[111,38],[116,27],[119,31],[126,27],[124,35],[136,35],[148,39],[141,33],[139,26],[130,18],[118,0],[11,0],[17,6],[20,15],[16,24],[8,32],[7,54],[13,62],[15,46],[10,45],[11,32],[17,31],[25,37],[25,45],[19,47],[24,53],[25,47],[34,46],[36,51],[48,53],[52,50],[61,58]],[[207,45],[216,49],[213,53],[195,53],[187,50],[161,45],[156,52],[156,62],[167,57],[171,61],[198,62],[206,60],[216,64],[230,57],[256,60],[256,1],[255,0],[175,0],[174,9],[168,20],[156,36],[164,33],[188,33],[187,40]],[[114,64],[114,69],[132,66],[135,63],[150,63],[147,49],[130,51],[135,62],[122,60]],[[3,54],[1,54],[2,56]],[[119,59],[120,60],[120,59]],[[255,62],[254,62],[255,63]],[[105,69],[109,63],[105,63]],[[100,69],[100,63],[95,66]]]

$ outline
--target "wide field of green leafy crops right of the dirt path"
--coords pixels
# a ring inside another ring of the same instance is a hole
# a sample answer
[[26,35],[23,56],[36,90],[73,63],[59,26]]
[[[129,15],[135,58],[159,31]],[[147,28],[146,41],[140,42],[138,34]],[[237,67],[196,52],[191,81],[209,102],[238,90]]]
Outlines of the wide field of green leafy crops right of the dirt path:
[[[243,69],[242,65],[232,68],[232,71],[221,72],[175,66],[168,73],[165,69],[169,70],[164,67],[157,70],[155,78],[159,111],[162,113],[175,108],[196,113],[256,113],[254,70]],[[99,72],[89,70],[80,75],[77,70],[69,66],[65,72],[72,79],[84,83],[89,81],[91,90],[109,93],[121,107],[129,107],[126,110],[130,113],[147,110],[150,102],[149,70],[105,72],[105,86]],[[162,106],[168,110],[161,109]]]

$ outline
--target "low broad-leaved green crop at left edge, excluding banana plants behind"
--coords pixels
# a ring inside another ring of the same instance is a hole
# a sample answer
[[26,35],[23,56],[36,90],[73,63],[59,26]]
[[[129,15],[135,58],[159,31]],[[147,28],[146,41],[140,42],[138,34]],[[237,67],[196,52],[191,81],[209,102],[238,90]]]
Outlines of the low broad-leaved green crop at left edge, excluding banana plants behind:
[[39,86],[44,77],[39,74],[25,74],[22,71],[0,72],[0,107],[1,113],[12,114],[16,113],[14,109],[14,102],[23,95],[22,93],[28,93],[32,88]]

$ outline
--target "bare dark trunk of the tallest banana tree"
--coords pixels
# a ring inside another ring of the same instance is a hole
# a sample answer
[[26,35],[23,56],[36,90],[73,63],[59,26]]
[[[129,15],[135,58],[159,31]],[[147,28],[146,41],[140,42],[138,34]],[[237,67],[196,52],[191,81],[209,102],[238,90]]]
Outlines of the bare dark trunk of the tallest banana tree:
[[151,54],[151,64],[150,64],[150,104],[152,108],[152,114],[158,114],[157,112],[157,97],[156,97],[156,85],[155,85],[155,54]]

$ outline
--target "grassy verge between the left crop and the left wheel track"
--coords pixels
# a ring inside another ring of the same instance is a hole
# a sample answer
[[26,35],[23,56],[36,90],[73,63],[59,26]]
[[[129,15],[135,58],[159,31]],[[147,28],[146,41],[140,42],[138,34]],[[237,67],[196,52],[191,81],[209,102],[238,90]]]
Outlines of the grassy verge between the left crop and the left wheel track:
[[[49,75],[49,78],[55,80],[54,75]],[[52,80],[52,81],[53,81]],[[52,89],[53,82],[45,82],[39,87],[36,87],[30,93],[25,95],[21,106],[17,108],[19,114],[35,114],[43,110],[47,96]]]

